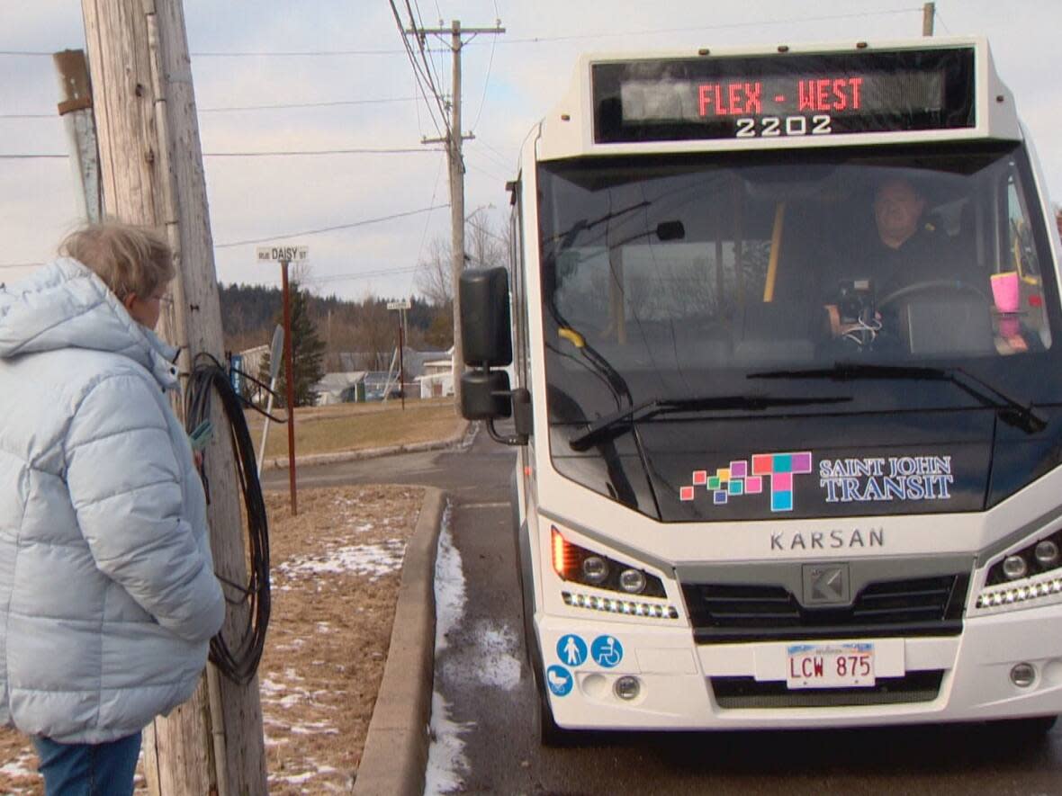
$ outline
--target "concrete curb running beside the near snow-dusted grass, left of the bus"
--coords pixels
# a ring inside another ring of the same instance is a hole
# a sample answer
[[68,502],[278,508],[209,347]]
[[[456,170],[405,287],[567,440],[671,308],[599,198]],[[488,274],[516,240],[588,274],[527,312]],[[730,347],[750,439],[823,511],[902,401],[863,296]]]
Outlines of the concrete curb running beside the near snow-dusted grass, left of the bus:
[[383,681],[354,793],[422,796],[435,657],[435,552],[446,495],[429,487],[406,546]]

